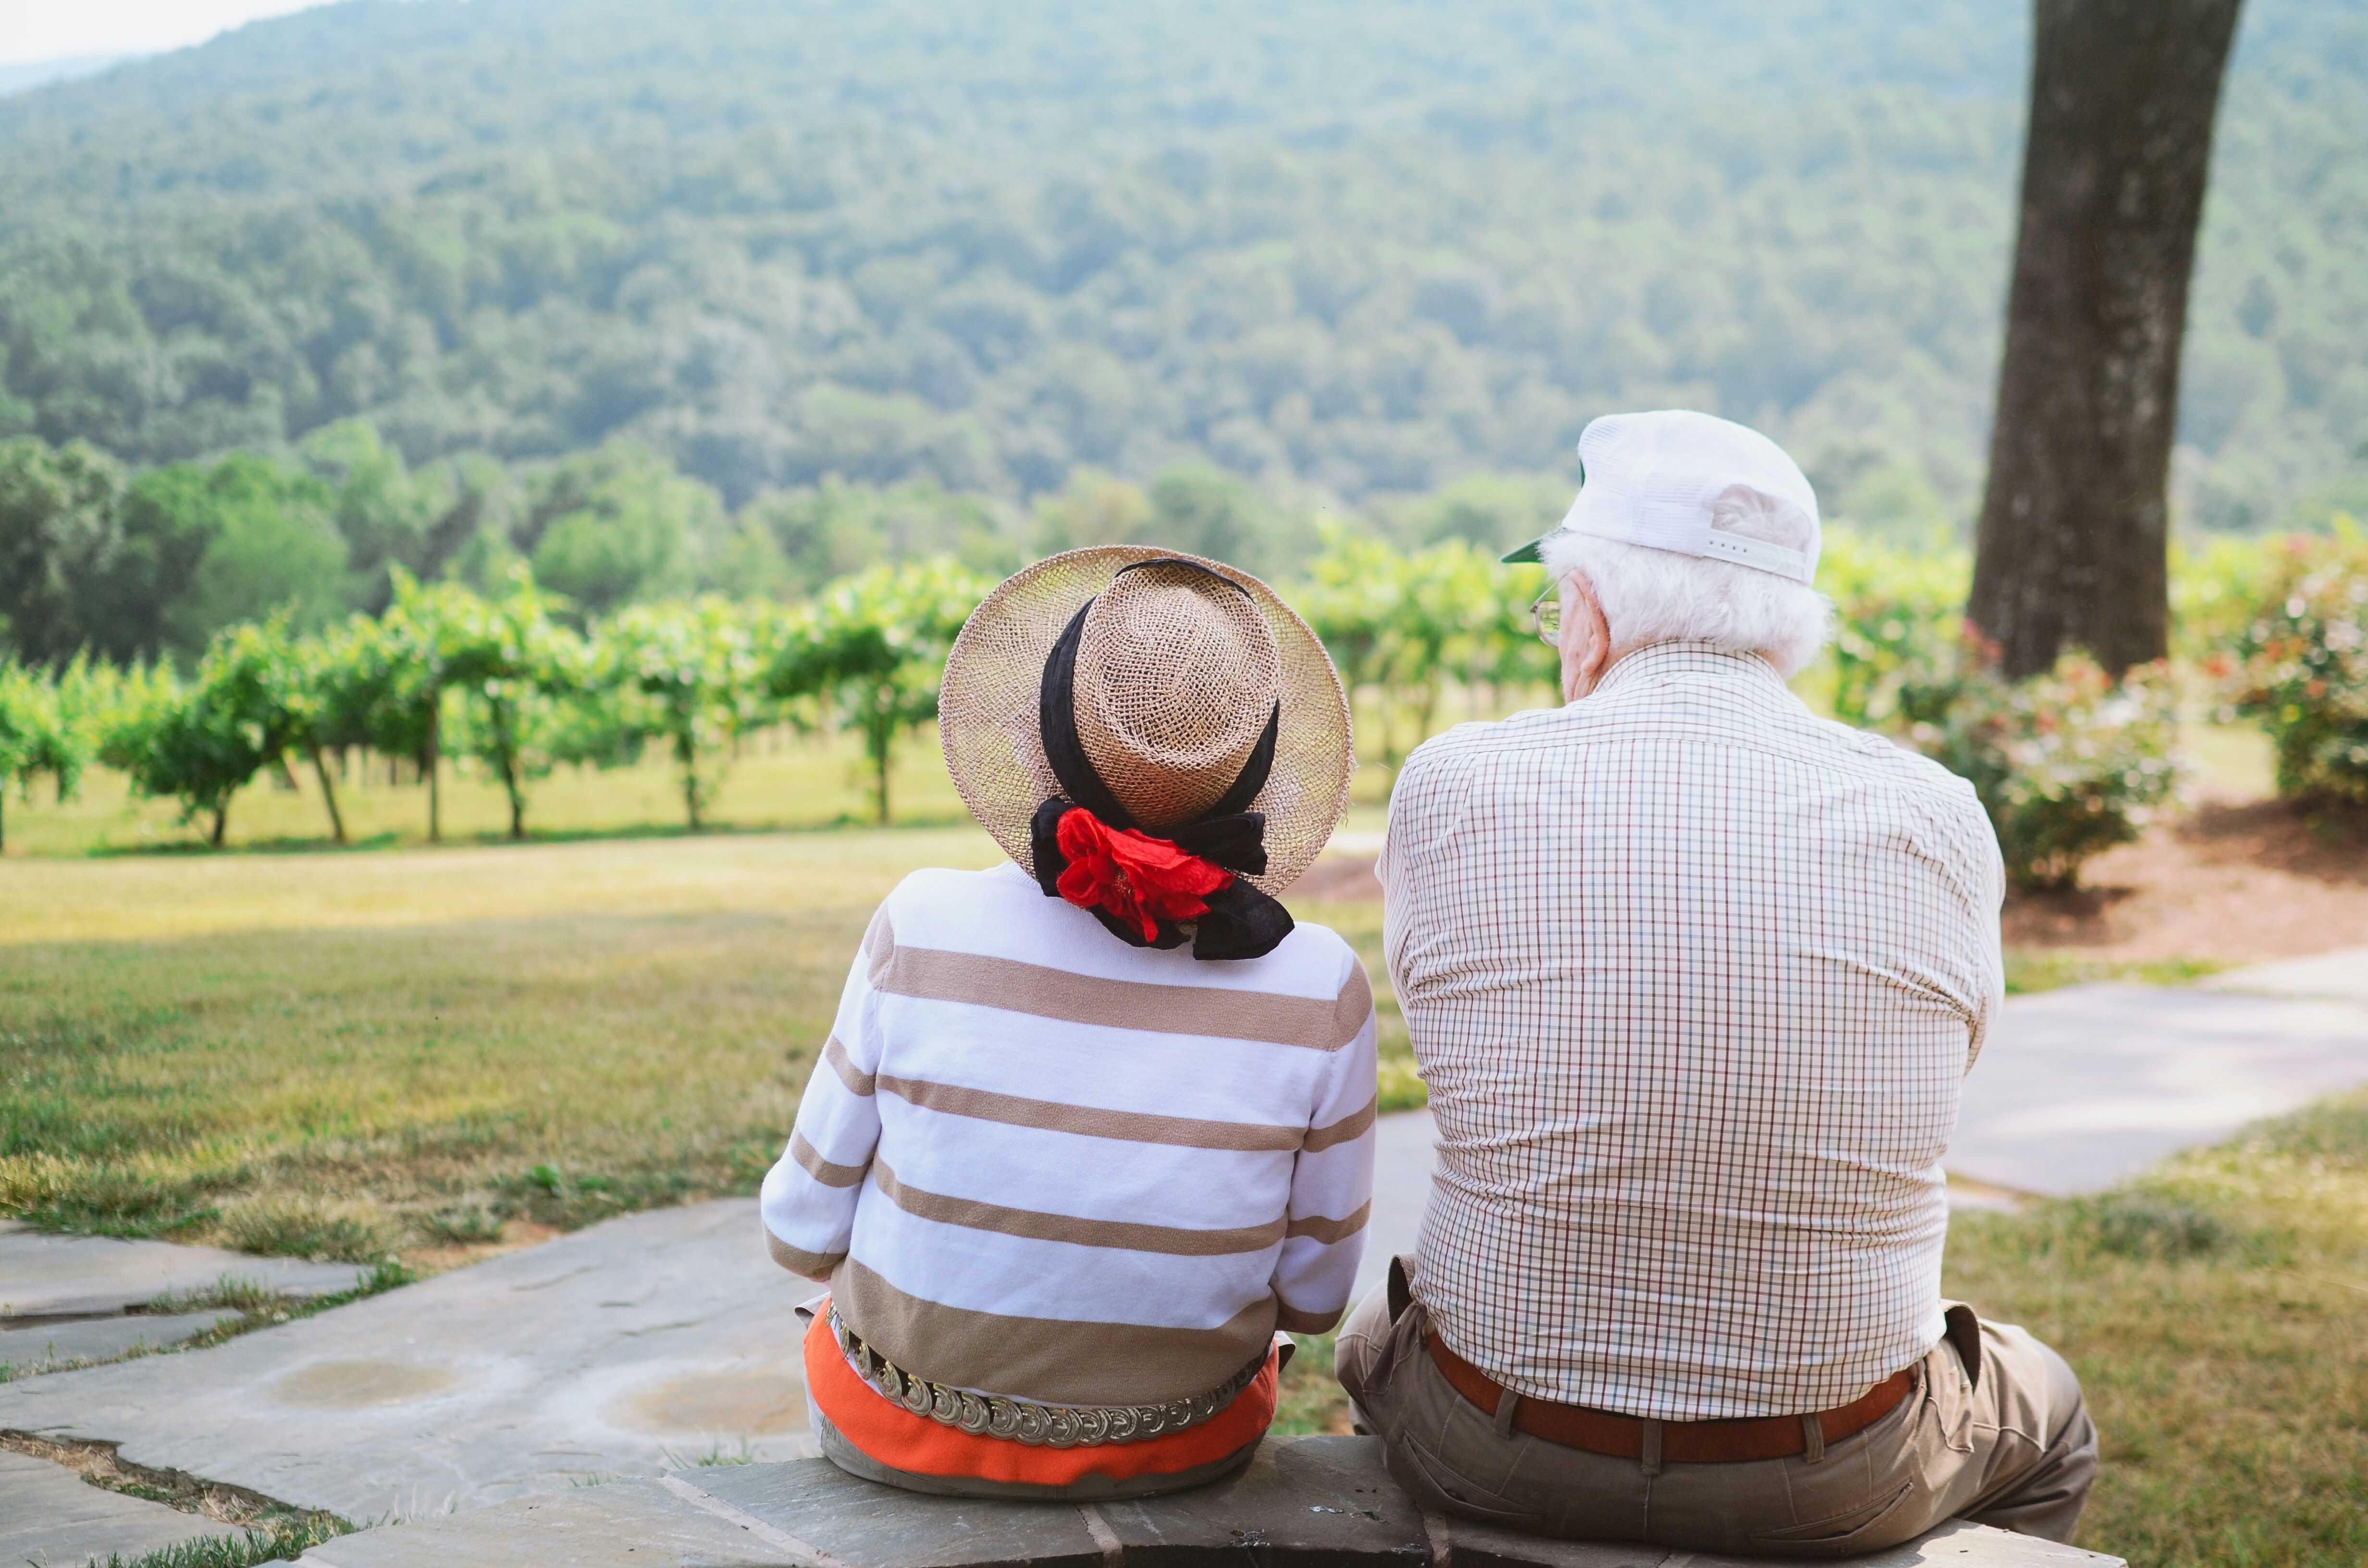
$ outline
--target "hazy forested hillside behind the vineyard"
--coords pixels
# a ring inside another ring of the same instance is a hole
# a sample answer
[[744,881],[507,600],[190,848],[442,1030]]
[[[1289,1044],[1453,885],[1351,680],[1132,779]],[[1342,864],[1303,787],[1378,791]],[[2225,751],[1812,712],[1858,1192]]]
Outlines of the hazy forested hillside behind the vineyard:
[[[1364,502],[1688,403],[1961,523],[2008,0],[353,0],[0,99],[0,436],[613,438],[727,507],[1208,460]],[[2368,5],[2254,0],[2179,495],[2368,497]]]

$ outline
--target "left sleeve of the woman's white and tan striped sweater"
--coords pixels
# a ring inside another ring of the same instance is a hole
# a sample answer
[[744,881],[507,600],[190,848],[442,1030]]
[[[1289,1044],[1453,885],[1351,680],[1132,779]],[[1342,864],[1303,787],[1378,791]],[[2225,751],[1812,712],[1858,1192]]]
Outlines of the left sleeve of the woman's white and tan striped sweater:
[[829,1279],[848,1255],[855,1201],[871,1170],[871,1151],[881,1142],[874,1097],[881,1033],[871,962],[893,943],[888,907],[881,905],[838,995],[838,1016],[798,1101],[798,1125],[789,1135],[789,1149],[765,1172],[758,1196],[772,1260],[807,1279]]

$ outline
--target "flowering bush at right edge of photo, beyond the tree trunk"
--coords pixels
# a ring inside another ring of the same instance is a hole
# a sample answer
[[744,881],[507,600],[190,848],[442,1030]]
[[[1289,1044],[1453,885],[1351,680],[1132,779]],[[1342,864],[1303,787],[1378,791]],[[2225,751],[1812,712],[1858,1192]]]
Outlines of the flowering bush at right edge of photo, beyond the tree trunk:
[[2278,793],[2368,805],[2368,535],[2278,540],[2252,618],[2212,666],[2278,751]]

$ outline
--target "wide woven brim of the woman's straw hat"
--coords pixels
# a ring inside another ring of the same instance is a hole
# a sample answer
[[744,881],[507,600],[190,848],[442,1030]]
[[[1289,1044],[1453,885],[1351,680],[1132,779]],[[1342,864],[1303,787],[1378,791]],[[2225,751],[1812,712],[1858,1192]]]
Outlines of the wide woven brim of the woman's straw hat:
[[1274,632],[1281,718],[1274,770],[1250,810],[1267,817],[1267,869],[1246,876],[1279,893],[1314,865],[1347,810],[1357,770],[1347,692],[1324,644],[1272,587],[1224,561],[1153,545],[1096,545],[1047,557],[1004,578],[954,637],[938,687],[938,739],[961,803],[1011,860],[1035,874],[1028,824],[1061,793],[1044,763],[1037,692],[1044,658],[1077,609],[1139,561],[1193,561],[1238,583]]

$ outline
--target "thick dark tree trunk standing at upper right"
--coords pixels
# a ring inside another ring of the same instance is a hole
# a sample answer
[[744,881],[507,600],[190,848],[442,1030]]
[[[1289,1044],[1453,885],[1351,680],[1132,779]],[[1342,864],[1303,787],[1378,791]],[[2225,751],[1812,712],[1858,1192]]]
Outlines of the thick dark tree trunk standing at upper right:
[[1968,616],[2010,677],[2169,637],[2179,341],[2240,0],[2036,0],[2022,232]]

